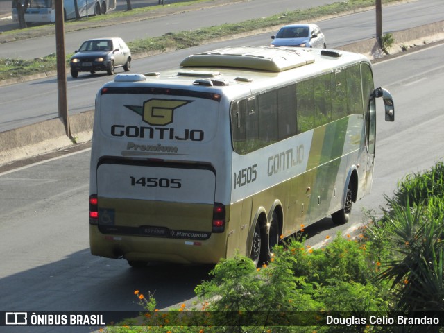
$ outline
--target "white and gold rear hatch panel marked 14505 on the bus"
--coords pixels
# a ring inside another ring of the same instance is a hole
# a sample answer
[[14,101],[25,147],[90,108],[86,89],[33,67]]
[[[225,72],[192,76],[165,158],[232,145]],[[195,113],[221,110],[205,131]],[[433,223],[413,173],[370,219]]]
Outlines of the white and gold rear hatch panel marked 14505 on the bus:
[[[211,169],[187,164],[101,163],[99,225],[123,226],[133,234],[151,227],[211,232],[215,182]],[[101,211],[106,221],[101,221]]]

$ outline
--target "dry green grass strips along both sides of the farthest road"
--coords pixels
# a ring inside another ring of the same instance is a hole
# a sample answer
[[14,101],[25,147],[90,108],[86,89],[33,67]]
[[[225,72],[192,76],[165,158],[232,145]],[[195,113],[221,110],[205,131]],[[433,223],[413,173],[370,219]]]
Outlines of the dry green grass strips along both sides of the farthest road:
[[[203,2],[205,0],[196,0],[197,2]],[[170,6],[187,6],[196,1],[190,1],[187,3],[173,3]],[[383,3],[390,3],[398,0],[383,0]],[[214,40],[223,40],[233,38],[236,35],[242,33],[257,33],[257,31],[264,31],[267,28],[274,26],[281,26],[284,24],[290,24],[294,22],[314,21],[321,17],[339,16],[348,12],[354,12],[363,10],[368,7],[375,6],[375,0],[349,0],[343,2],[335,2],[330,5],[309,8],[307,10],[294,10],[289,12],[282,12],[279,15],[273,15],[271,17],[264,17],[260,19],[250,19],[245,22],[237,24],[222,24],[221,26],[210,26],[205,28],[199,28],[194,31],[181,31],[179,33],[167,33],[160,37],[150,37],[144,40],[135,40],[129,42],[133,58],[142,56],[147,53],[155,54],[162,53],[164,51],[174,51],[178,49],[187,49],[192,46],[198,46],[208,42],[214,42]],[[110,12],[110,14],[99,17],[89,17],[85,24],[85,19],[74,22],[67,22],[65,24],[65,31],[75,31],[83,28],[91,28],[94,26],[94,22],[97,22],[97,26],[106,25],[107,22],[112,24],[118,17],[134,17],[137,15],[145,14],[146,11],[158,9],[159,6],[153,6],[148,8],[137,8],[132,11],[123,12]],[[41,27],[28,28],[38,29]],[[53,30],[53,27],[43,27]],[[25,29],[26,31],[28,29]],[[21,31],[10,31],[11,35],[19,35]],[[69,67],[69,58],[72,53],[66,56],[67,67]],[[56,55],[50,54],[43,58],[37,58],[35,60],[21,60],[18,58],[0,58],[0,80],[7,80],[12,78],[20,78],[22,76],[28,76],[33,74],[40,74],[47,71],[56,71],[57,62]]]

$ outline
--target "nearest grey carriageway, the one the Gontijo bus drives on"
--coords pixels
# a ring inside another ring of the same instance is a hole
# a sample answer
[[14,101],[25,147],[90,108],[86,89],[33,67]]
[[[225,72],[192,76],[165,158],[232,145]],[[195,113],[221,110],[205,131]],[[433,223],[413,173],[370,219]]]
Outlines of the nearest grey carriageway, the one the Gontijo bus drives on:
[[[395,98],[396,119],[386,123],[378,106],[377,155],[372,194],[353,207],[348,225],[330,219],[307,228],[312,246],[326,235],[350,232],[362,209],[384,205],[401,178],[444,157],[444,44],[374,65],[375,84]],[[1,172],[1,171],[0,171]],[[152,265],[137,271],[125,260],[89,254],[87,198],[89,150],[0,173],[0,309],[139,310],[135,289],[154,293],[159,308],[189,301],[211,266]],[[19,327],[8,333],[60,332],[57,327]],[[96,328],[96,327],[95,327]],[[94,328],[91,328],[93,330]],[[86,333],[88,327],[66,327]]]

